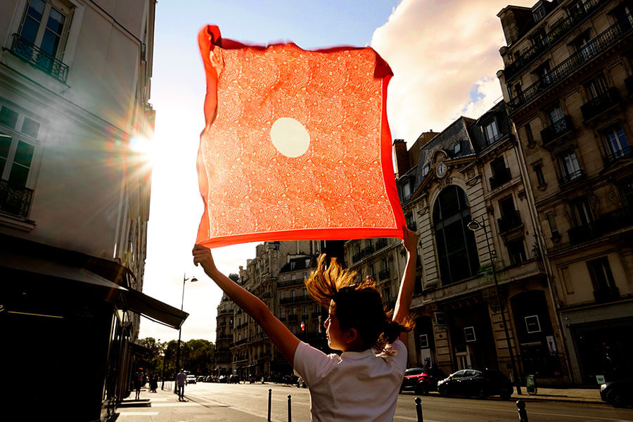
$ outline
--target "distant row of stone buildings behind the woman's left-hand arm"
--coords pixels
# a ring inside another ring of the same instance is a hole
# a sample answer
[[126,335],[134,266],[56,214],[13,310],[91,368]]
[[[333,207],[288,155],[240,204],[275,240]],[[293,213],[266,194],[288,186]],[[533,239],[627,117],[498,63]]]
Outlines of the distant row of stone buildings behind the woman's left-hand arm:
[[[304,280],[316,267],[321,253],[343,256],[341,241],[269,241],[255,247],[255,257],[240,267],[234,281],[264,301],[273,314],[298,338],[329,351],[324,340],[327,309],[309,298]],[[223,296],[217,313],[217,373],[235,374],[242,380],[281,380],[292,366],[281,356],[262,328]],[[220,343],[222,342],[222,343]]]

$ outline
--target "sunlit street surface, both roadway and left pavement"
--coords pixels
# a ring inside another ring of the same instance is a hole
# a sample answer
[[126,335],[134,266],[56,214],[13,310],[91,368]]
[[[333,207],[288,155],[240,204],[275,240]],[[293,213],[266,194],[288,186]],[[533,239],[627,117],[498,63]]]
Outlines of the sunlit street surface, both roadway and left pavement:
[[[151,399],[151,407],[120,408],[122,422],[184,422],[184,421],[265,421],[268,390],[271,396],[271,420],[288,421],[288,395],[292,397],[292,420],[309,422],[309,392],[280,384],[217,384],[187,385],[188,402],[179,403],[170,392],[143,392],[141,398]],[[416,421],[415,395],[398,397],[394,421]],[[497,422],[518,421],[513,400],[445,398],[437,395],[422,397],[425,422]],[[530,422],[617,422],[633,421],[633,409],[615,409],[606,404],[577,402],[527,402]]]

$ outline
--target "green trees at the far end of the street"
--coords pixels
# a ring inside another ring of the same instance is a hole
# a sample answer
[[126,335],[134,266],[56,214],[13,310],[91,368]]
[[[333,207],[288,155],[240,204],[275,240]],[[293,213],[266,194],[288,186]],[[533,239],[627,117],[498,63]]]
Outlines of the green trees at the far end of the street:
[[[153,371],[162,376],[163,364],[165,364],[165,379],[176,377],[179,368],[176,368],[176,356],[178,341],[157,342],[154,338],[141,339],[141,344],[152,350],[151,364]],[[215,367],[215,345],[209,340],[195,339],[180,343],[180,366],[185,371],[196,375],[207,375]]]

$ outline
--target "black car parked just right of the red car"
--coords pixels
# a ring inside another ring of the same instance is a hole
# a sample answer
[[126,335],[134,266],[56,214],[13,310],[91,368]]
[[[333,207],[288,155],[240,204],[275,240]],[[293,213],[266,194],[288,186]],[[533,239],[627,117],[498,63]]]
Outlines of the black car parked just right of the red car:
[[484,399],[499,395],[502,399],[509,399],[512,382],[503,373],[492,369],[462,369],[437,383],[437,391],[443,396],[466,395]]

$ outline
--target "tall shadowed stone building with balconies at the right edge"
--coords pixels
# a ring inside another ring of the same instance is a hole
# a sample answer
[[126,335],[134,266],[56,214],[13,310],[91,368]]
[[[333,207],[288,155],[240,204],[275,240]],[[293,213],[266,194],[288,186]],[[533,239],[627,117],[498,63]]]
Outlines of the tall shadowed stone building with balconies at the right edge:
[[630,1],[537,1],[498,14],[498,72],[571,382],[633,364]]

